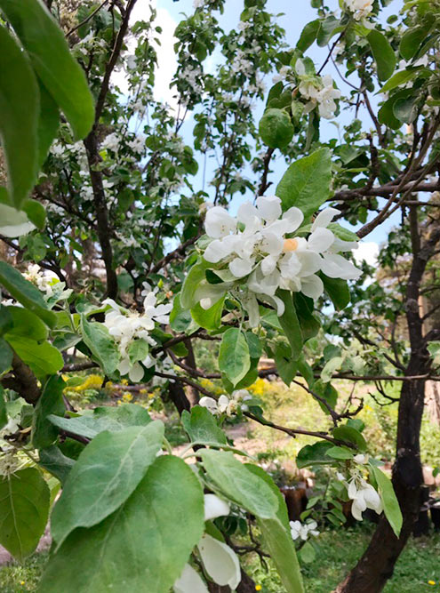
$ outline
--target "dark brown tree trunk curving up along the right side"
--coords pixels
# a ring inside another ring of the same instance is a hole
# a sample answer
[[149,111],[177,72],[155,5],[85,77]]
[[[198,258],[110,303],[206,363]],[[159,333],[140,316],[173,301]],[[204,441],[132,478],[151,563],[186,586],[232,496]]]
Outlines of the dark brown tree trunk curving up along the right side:
[[[426,340],[423,336],[423,320],[420,315],[420,283],[428,260],[432,257],[440,239],[436,226],[423,247],[420,248],[417,220],[412,220],[412,269],[406,288],[406,321],[411,344],[411,357],[406,375],[419,375],[429,370]],[[400,537],[393,533],[385,517],[372,536],[355,568],[335,589],[335,593],[376,593],[383,589],[392,576],[397,558],[412,533],[419,516],[420,488],[423,475],[420,463],[420,425],[425,400],[423,379],[404,381],[399,400],[397,421],[396,461],[393,467],[393,485],[404,517]]]

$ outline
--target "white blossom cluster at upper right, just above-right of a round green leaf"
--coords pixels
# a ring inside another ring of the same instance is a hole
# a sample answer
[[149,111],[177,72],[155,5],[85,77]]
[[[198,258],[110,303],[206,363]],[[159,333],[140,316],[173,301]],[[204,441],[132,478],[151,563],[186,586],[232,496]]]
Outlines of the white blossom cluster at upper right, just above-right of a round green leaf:
[[308,100],[304,111],[309,113],[318,108],[319,115],[325,119],[332,119],[336,111],[335,99],[340,99],[340,91],[334,88],[332,76],[310,76],[302,60],[297,60],[295,70],[300,76],[300,95]]

